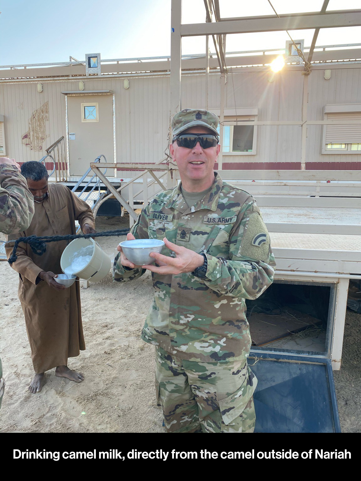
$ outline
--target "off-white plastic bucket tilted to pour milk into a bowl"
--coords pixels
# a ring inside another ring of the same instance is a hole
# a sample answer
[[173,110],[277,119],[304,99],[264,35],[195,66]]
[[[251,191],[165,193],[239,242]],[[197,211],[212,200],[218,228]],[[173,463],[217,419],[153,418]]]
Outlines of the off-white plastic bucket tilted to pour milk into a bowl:
[[[112,266],[112,261],[106,253],[102,251],[102,248],[93,239],[74,239],[71,241],[64,249],[62,257],[60,259],[60,266],[62,271],[66,267],[69,267],[73,260],[74,254],[82,249],[83,247],[93,247],[93,252],[89,263],[84,266],[81,270],[74,272],[74,274],[85,280],[91,280],[92,282],[99,282],[107,274],[109,274],[110,268]],[[90,255],[90,254],[89,254]]]

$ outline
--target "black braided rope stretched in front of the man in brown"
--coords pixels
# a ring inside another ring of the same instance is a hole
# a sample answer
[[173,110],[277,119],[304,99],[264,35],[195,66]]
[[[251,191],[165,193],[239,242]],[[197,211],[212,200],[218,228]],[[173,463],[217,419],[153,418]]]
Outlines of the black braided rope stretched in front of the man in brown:
[[17,259],[16,250],[20,242],[29,244],[34,254],[43,255],[43,253],[46,252],[45,242],[73,241],[74,239],[89,239],[90,237],[125,236],[126,234],[128,234],[128,232],[129,232],[129,229],[121,229],[121,230],[107,230],[106,232],[98,232],[96,234],[69,234],[67,236],[50,236],[50,237],[46,237],[46,236],[19,237],[19,239],[16,239],[16,241],[6,242],[6,243],[15,242],[13,253],[9,257],[8,263],[13,264],[13,262],[16,261]]

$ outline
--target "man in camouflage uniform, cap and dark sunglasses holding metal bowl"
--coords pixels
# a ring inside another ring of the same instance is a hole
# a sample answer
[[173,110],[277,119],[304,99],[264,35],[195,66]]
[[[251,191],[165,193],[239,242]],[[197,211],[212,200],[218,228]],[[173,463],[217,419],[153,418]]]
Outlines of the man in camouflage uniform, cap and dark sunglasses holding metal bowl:
[[160,239],[156,265],[121,252],[113,278],[152,271],[155,296],[142,339],[156,346],[157,400],[167,432],[253,432],[257,379],[247,365],[245,299],[271,284],[270,236],[255,200],[213,171],[219,118],[186,109],[172,121],[181,184],[155,196],[128,239]]

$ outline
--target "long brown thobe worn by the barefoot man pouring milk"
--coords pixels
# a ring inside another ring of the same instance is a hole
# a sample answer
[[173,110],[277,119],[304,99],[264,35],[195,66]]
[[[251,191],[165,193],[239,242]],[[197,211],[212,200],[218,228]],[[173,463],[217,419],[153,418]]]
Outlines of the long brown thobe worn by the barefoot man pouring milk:
[[[75,234],[75,220],[82,228],[85,223],[94,228],[94,216],[89,205],[61,184],[49,185],[49,196],[35,203],[35,214],[28,229],[19,237]],[[68,357],[84,351],[81,323],[80,288],[76,281],[63,291],[55,291],[40,280],[41,271],[61,274],[60,258],[69,241],[48,242],[43,255],[34,254],[29,244],[20,243],[12,264],[19,273],[18,295],[24,311],[27,337],[35,372],[41,373],[56,366],[66,366]],[[13,244],[7,244],[8,258]]]

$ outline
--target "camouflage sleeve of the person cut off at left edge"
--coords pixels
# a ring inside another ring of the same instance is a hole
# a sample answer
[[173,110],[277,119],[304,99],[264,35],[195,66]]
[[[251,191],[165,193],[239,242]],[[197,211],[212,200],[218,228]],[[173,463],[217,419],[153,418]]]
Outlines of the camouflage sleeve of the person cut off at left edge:
[[0,159],[0,232],[13,234],[29,227],[34,215],[34,198],[26,179],[11,164]]

